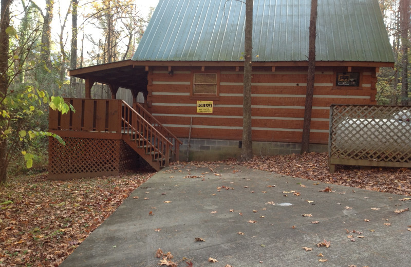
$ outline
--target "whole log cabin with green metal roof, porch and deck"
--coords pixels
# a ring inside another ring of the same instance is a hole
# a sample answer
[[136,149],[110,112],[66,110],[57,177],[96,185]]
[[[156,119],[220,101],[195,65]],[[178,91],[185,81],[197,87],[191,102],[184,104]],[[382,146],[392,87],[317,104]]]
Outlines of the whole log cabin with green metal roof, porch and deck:
[[[310,5],[254,0],[255,155],[300,152]],[[375,105],[379,68],[393,67],[394,55],[377,0],[319,0],[317,13],[310,149],[325,151],[330,105]],[[50,111],[49,130],[66,145],[50,139],[49,178],[118,174],[136,155],[157,170],[240,155],[244,28],[240,1],[160,0],[132,59],[70,70],[85,98],[67,99],[75,113]],[[111,99],[92,99],[95,83]]]

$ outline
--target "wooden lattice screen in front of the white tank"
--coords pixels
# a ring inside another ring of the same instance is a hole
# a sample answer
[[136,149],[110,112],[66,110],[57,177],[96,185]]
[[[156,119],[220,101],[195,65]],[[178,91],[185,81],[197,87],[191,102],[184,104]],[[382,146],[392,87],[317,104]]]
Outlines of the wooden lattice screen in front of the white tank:
[[330,171],[335,164],[411,167],[411,107],[332,105]]

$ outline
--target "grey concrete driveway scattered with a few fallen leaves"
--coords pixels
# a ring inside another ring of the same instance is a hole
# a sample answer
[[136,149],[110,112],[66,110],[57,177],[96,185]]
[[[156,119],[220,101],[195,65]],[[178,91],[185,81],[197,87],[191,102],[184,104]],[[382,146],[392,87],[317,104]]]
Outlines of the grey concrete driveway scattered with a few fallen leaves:
[[177,165],[137,188],[60,266],[160,266],[161,248],[183,267],[409,267],[403,198],[241,166]]

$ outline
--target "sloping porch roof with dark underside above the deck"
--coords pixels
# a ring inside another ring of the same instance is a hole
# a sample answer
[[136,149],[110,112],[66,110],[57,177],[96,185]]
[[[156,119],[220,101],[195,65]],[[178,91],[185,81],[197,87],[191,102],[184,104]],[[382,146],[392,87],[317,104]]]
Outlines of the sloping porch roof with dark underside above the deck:
[[69,75],[127,89],[139,89],[142,85],[147,84],[147,73],[144,66],[137,66],[135,63],[131,60],[125,60],[73,69],[69,71]]

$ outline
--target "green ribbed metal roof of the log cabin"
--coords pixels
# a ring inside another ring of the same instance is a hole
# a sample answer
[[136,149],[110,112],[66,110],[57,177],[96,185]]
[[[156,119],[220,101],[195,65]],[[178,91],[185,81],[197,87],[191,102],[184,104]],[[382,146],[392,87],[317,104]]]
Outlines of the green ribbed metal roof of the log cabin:
[[[253,61],[307,61],[310,5],[254,0]],[[240,61],[245,10],[236,0],[160,0],[132,60]],[[378,0],[319,0],[316,60],[394,62]]]

